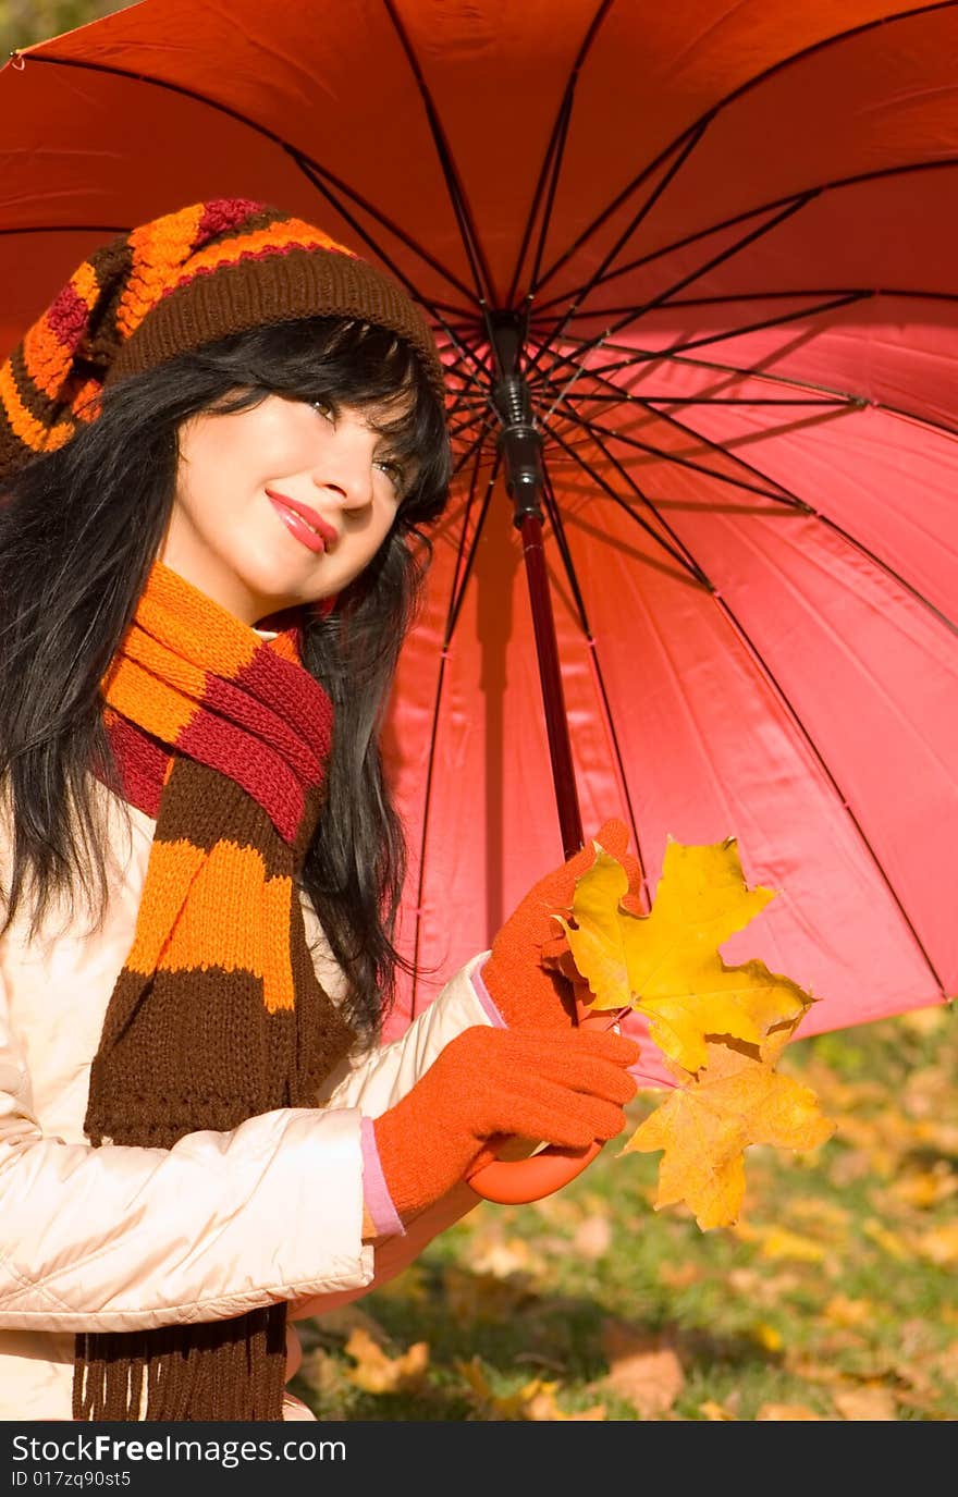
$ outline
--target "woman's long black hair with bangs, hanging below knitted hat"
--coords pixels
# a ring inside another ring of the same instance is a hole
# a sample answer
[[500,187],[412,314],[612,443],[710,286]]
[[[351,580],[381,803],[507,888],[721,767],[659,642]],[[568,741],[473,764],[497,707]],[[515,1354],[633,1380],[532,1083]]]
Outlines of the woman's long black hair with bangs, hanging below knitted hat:
[[[409,963],[392,937],[406,873],[379,729],[446,503],[449,436],[415,350],[362,322],[257,328],[108,385],[97,419],[7,482],[0,504],[0,786],[10,820],[6,930],[55,895],[106,906],[96,778],[118,777],[100,683],[169,522],[181,424],[280,394],[370,410],[412,481],[370,566],[328,617],[304,611],[304,665],[335,708],[328,799],[302,886],[344,976],[343,1010],[376,1033]],[[76,909],[75,904],[72,904]]]

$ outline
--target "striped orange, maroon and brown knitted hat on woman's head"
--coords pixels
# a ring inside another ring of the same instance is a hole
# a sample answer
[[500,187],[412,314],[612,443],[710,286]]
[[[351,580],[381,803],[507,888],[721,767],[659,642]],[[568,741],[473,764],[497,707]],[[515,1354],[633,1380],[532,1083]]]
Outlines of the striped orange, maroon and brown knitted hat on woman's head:
[[94,250],[0,368],[0,476],[96,419],[105,385],[232,332],[356,317],[443,365],[403,287],[322,229],[242,198],[198,202]]

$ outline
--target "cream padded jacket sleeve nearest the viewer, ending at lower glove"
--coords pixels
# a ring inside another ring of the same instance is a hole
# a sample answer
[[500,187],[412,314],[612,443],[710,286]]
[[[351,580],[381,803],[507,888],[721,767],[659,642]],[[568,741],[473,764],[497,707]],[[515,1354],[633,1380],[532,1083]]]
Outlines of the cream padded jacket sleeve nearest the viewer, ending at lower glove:
[[359,1111],[334,1108],[171,1150],[46,1136],[0,990],[0,1326],[133,1331],[361,1292],[359,1133]]

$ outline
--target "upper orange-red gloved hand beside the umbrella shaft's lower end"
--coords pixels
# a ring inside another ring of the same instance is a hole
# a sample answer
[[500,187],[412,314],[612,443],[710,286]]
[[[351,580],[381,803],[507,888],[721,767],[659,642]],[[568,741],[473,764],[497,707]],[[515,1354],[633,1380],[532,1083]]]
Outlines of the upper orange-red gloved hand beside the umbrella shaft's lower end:
[[[608,820],[594,838],[609,856],[621,862],[629,876],[629,906],[641,883],[641,868],[626,855],[629,829]],[[591,840],[573,858],[540,879],[492,942],[482,969],[482,981],[509,1028],[567,1028],[575,1022],[572,984],[558,972],[542,966],[542,957],[561,943],[561,927],[552,919],[572,909],[576,879],[591,868],[596,849]],[[638,906],[635,906],[636,913]]]

